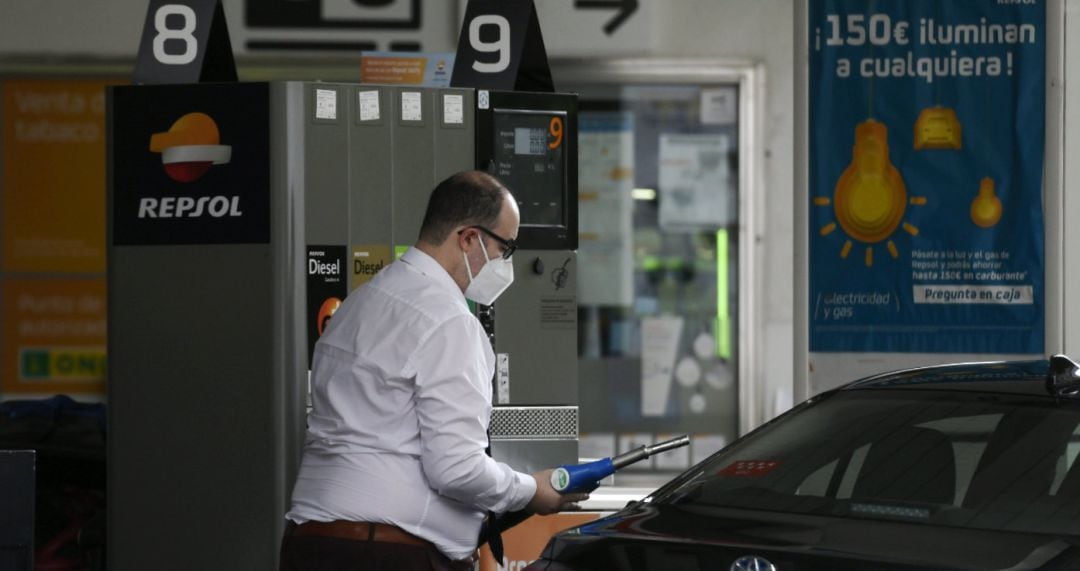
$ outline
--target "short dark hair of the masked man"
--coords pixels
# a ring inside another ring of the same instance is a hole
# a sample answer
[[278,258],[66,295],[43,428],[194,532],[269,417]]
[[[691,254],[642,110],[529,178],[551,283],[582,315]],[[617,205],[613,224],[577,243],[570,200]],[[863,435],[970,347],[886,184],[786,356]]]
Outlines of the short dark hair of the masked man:
[[451,175],[431,191],[420,241],[442,244],[459,226],[495,228],[509,192],[499,179],[481,171]]

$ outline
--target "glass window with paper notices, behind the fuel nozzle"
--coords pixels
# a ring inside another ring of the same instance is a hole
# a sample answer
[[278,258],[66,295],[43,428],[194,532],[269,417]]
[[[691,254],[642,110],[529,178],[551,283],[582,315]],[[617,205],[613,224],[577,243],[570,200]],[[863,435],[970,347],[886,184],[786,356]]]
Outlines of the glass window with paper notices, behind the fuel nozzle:
[[740,83],[584,68],[553,66],[580,108],[580,456],[689,434],[615,481],[651,486],[739,432]]

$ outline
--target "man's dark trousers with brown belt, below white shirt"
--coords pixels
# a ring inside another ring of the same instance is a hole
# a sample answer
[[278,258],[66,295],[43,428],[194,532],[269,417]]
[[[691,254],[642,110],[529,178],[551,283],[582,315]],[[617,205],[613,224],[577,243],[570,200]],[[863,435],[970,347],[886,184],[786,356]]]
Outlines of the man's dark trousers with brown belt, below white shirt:
[[293,522],[285,526],[281,571],[470,571],[473,568],[470,562],[451,561],[432,546],[294,535],[295,528]]

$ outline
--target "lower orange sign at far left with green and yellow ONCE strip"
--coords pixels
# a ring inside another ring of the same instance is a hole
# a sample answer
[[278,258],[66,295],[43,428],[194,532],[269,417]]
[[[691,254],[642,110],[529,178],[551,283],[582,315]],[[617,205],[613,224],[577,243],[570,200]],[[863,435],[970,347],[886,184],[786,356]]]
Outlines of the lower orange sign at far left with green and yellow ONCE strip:
[[3,282],[0,392],[104,394],[105,280]]

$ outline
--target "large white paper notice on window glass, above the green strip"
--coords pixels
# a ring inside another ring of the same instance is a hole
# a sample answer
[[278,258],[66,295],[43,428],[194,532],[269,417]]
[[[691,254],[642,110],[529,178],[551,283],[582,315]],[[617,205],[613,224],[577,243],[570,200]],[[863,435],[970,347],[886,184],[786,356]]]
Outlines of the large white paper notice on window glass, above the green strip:
[[733,222],[737,189],[727,135],[660,136],[660,226],[716,228]]

